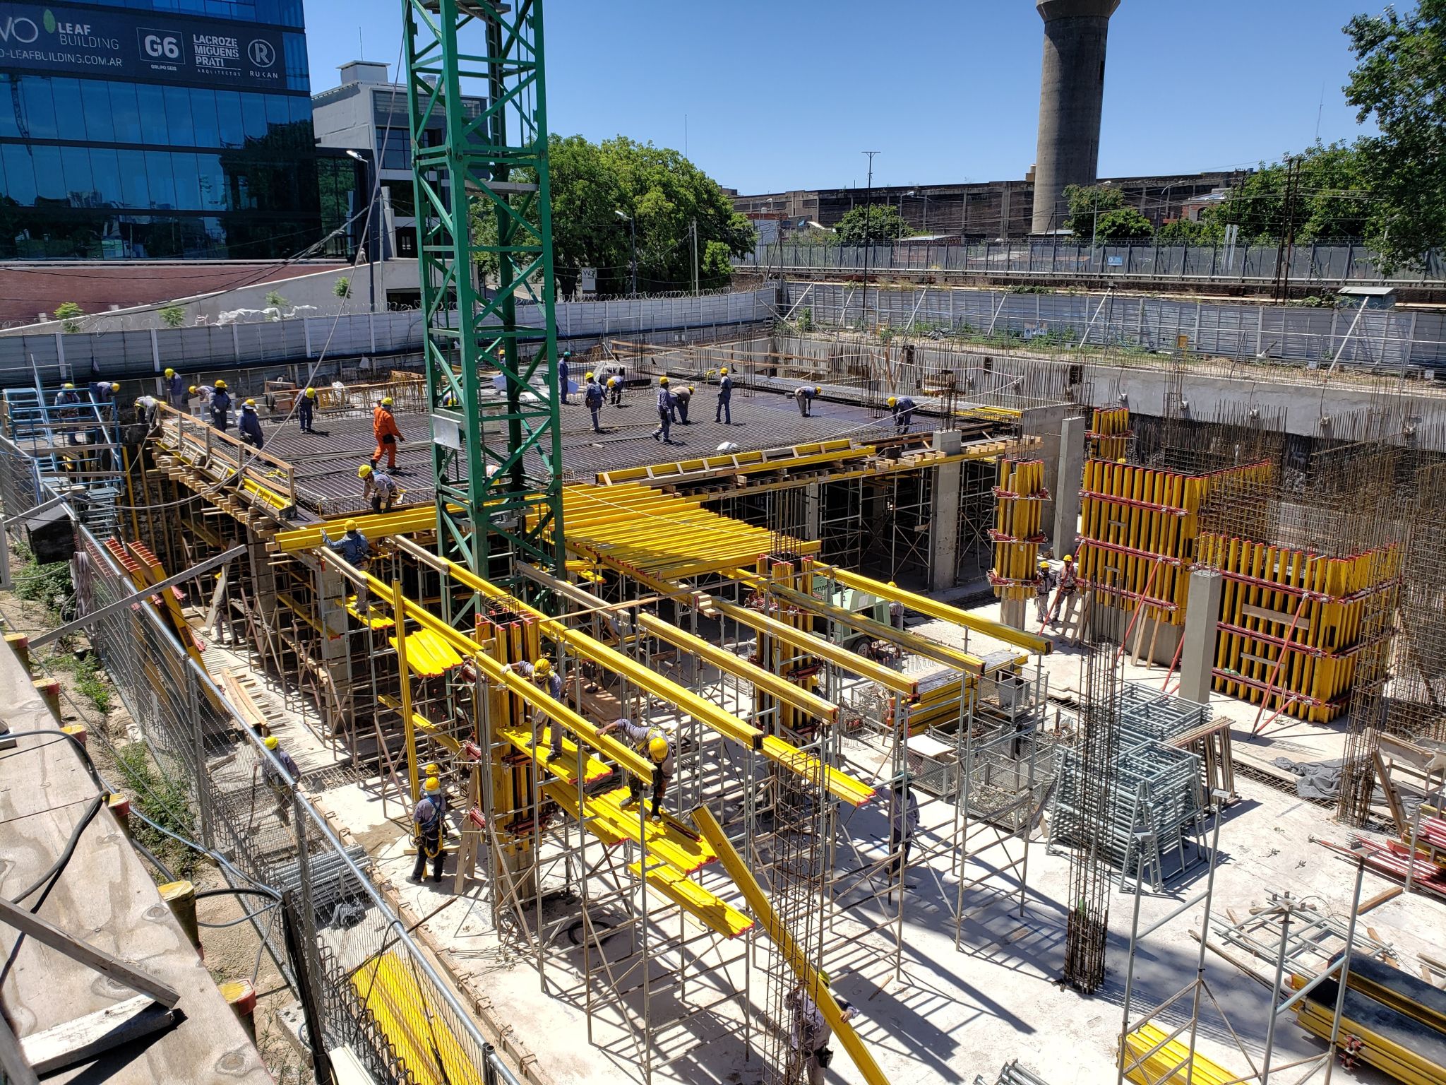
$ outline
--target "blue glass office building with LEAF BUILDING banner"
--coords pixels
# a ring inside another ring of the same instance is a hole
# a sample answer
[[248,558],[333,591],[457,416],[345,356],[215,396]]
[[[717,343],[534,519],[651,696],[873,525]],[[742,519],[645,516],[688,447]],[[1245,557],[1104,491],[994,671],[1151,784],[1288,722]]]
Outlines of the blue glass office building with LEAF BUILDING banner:
[[0,259],[321,242],[357,171],[318,158],[309,91],[301,0],[0,4]]

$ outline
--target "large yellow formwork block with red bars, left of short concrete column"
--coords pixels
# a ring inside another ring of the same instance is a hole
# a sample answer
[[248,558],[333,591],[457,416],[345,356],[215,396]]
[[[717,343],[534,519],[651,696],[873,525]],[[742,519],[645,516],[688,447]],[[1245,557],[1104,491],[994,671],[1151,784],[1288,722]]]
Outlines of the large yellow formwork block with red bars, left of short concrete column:
[[1155,622],[1181,625],[1202,505],[1215,486],[1270,472],[1267,463],[1192,475],[1087,460],[1080,580],[1092,589],[1108,584],[1111,602],[1125,610],[1144,606]]

